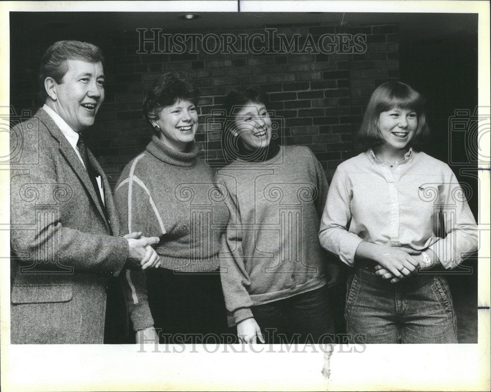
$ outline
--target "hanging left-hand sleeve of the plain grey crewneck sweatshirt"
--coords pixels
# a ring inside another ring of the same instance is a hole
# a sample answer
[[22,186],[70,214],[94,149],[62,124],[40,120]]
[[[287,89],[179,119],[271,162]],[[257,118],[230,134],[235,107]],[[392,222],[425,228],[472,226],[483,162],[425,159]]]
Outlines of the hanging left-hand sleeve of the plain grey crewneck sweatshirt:
[[230,216],[225,231],[221,237],[221,248],[218,254],[220,260],[220,278],[225,298],[225,306],[232,313],[235,323],[253,317],[247,287],[250,277],[247,274],[244,252],[242,249],[242,221],[237,199],[233,190],[227,187],[224,176],[217,174],[216,182],[225,194],[225,204]]

